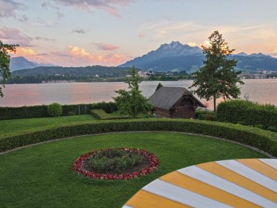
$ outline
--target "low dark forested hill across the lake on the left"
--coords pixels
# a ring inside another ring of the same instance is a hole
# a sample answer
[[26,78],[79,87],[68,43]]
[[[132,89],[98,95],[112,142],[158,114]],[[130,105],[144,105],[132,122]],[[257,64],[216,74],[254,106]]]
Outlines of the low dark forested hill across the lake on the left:
[[8,83],[121,81],[129,71],[131,71],[130,67],[36,67],[12,71],[12,78]]

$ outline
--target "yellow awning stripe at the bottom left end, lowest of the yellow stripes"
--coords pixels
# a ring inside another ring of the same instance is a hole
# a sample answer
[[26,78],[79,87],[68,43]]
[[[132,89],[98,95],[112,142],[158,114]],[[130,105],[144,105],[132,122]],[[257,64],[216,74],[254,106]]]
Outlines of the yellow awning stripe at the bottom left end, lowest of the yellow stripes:
[[157,208],[186,208],[190,207],[188,205],[183,205],[179,202],[175,202],[169,200],[167,198],[163,198],[162,196],[157,196],[153,193],[149,193],[148,191],[139,191],[137,192],[129,201],[126,202],[127,206],[134,208],[147,208],[147,207],[157,207]]

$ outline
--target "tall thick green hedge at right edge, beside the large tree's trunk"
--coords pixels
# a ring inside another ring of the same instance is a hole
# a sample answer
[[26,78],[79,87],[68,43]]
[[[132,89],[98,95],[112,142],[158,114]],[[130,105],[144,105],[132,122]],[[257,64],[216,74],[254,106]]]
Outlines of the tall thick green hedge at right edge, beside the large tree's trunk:
[[217,106],[217,120],[262,128],[277,128],[277,107],[251,101],[232,100]]

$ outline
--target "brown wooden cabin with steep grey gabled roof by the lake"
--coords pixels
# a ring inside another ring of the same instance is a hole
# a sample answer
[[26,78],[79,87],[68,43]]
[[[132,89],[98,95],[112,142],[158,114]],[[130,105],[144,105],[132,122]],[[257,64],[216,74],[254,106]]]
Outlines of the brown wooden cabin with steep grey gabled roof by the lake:
[[157,117],[167,118],[193,118],[197,107],[205,107],[183,87],[160,87],[150,96],[149,102]]

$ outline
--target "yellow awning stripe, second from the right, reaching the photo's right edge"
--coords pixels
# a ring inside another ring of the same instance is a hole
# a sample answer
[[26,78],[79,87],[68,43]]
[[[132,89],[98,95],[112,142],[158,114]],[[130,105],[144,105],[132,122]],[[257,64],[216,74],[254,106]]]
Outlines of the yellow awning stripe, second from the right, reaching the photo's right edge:
[[196,166],[199,168],[202,168],[205,171],[213,173],[219,177],[222,177],[225,180],[229,180],[229,182],[238,184],[240,187],[243,187],[244,189],[248,189],[249,191],[257,193],[258,195],[260,195],[264,198],[267,198],[273,202],[277,202],[277,193],[276,192],[271,191],[265,187],[262,187],[260,184],[256,184],[256,182],[253,182],[253,181],[249,180],[248,178],[243,177],[242,175],[239,175],[238,173],[235,173],[235,172],[229,170],[228,168],[224,168],[223,166],[220,166],[219,164],[216,164],[215,162],[197,164]]

